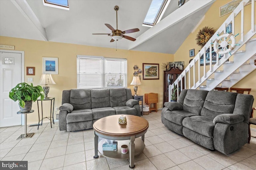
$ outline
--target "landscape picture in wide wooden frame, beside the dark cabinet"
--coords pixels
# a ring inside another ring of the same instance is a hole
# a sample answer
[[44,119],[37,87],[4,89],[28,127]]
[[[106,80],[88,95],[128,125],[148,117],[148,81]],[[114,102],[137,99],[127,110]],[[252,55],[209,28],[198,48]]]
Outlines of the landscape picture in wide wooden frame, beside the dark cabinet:
[[143,80],[159,79],[159,64],[142,63]]

